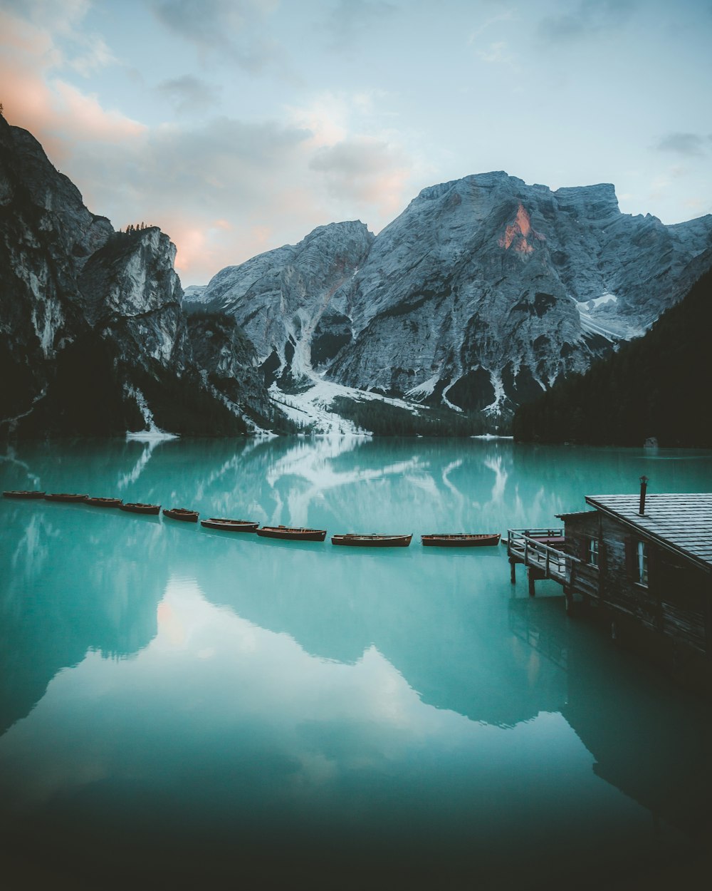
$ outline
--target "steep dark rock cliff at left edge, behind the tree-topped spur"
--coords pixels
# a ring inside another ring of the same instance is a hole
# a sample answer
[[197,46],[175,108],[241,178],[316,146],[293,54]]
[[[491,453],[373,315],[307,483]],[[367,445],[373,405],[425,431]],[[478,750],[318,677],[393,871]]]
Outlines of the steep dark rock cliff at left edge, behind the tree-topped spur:
[[[0,416],[18,418],[46,395],[50,369],[76,332],[77,272],[112,232],[39,143],[0,119]],[[59,209],[56,209],[59,208]]]

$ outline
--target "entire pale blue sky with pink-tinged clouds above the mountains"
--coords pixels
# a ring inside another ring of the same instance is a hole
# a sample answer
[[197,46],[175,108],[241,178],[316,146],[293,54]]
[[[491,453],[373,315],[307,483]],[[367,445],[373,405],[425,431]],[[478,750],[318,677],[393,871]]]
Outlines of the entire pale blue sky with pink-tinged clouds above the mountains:
[[490,170],[712,213],[712,0],[0,0],[0,102],[183,287]]

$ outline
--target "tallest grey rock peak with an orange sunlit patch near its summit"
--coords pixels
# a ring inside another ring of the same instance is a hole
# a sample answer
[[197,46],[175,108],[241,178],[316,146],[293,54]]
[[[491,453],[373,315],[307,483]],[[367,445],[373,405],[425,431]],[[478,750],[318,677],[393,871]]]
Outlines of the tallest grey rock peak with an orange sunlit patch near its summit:
[[611,185],[551,192],[495,173],[425,189],[354,277],[352,345],[328,373],[506,410],[642,333],[711,243],[712,218],[629,217]]

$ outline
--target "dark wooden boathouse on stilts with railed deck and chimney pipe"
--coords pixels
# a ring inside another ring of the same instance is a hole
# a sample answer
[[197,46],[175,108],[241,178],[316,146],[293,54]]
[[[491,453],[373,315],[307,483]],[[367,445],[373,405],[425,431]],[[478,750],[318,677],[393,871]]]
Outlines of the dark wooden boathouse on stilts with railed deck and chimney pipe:
[[580,602],[676,673],[712,690],[712,493],[587,495],[592,510],[560,514],[562,529],[510,529],[512,580],[527,568]]

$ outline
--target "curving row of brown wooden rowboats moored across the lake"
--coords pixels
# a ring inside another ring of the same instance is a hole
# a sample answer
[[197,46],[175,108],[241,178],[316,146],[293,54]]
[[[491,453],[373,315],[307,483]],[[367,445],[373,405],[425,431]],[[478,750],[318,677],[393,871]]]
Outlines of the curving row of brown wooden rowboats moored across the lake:
[[[4,492],[5,498],[39,499],[45,501],[82,503],[93,507],[118,508],[119,511],[129,513],[158,514],[161,512],[160,504],[145,504],[141,502],[123,502],[120,498],[95,498],[92,495],[77,495],[69,492],[39,492],[36,490],[15,490]],[[198,511],[189,511],[186,508],[175,507],[163,510],[165,517],[182,520],[186,523],[198,522]],[[222,532],[255,533],[263,538],[280,538],[285,541],[297,542],[323,542],[327,537],[326,529],[307,529],[293,526],[260,526],[248,519],[225,519],[223,517],[211,517],[201,519],[200,525],[207,529],[219,529]],[[433,535],[421,535],[421,541],[426,547],[484,547],[498,544],[498,533],[438,533]],[[409,535],[382,535],[378,533],[345,533],[344,535],[332,535],[331,544],[344,544],[351,547],[394,547],[407,548],[412,534]]]

